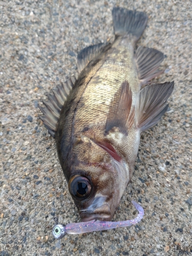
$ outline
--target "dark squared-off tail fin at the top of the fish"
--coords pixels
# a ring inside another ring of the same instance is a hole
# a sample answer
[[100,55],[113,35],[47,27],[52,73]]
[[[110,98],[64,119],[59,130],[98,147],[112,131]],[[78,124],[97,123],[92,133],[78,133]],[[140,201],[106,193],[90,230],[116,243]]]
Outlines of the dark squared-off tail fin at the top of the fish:
[[113,8],[112,15],[115,35],[132,34],[136,41],[142,35],[148,19],[144,12],[131,11],[119,7]]

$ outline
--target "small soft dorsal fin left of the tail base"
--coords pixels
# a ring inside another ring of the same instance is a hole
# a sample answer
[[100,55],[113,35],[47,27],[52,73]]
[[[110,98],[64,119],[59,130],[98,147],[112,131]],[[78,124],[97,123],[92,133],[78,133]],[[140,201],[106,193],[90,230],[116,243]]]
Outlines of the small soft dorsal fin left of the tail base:
[[97,57],[100,53],[104,52],[110,46],[111,46],[110,43],[105,43],[105,44],[100,43],[100,44],[88,46],[82,49],[77,56],[78,72],[80,73],[89,64],[91,60]]

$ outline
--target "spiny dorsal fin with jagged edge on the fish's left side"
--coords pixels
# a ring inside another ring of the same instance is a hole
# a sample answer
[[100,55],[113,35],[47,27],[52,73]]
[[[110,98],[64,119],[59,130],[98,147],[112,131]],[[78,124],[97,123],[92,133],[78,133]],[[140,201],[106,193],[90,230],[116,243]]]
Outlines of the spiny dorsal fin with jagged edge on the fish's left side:
[[39,115],[39,118],[44,122],[45,127],[48,129],[53,138],[55,138],[55,132],[57,131],[60,111],[72,87],[74,86],[75,81],[75,76],[66,78],[65,83],[61,83],[60,86],[57,86],[56,90],[52,90],[53,95],[47,95],[49,98],[48,101],[42,101],[45,108],[38,105],[39,109],[44,114],[43,116]]

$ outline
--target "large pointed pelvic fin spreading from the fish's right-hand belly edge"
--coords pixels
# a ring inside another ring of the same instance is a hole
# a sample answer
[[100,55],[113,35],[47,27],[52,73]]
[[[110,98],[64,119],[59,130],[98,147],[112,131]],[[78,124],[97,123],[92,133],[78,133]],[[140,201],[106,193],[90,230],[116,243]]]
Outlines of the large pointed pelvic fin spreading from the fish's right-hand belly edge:
[[143,132],[152,127],[164,115],[167,99],[174,89],[173,82],[156,83],[143,88],[136,101],[137,126]]

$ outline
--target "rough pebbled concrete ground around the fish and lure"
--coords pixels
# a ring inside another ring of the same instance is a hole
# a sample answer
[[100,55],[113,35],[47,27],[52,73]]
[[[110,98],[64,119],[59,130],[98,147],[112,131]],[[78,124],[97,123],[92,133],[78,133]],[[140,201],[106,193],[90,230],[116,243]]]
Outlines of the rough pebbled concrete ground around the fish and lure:
[[[138,45],[164,53],[158,82],[175,80],[169,111],[141,136],[114,220],[134,217],[131,200],[145,215],[137,226],[56,241],[53,216],[80,219],[37,104],[76,71],[81,49],[113,38],[115,5],[148,14]],[[192,255],[192,2],[1,1],[0,46],[0,255]]]

